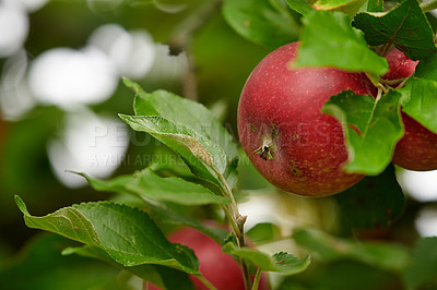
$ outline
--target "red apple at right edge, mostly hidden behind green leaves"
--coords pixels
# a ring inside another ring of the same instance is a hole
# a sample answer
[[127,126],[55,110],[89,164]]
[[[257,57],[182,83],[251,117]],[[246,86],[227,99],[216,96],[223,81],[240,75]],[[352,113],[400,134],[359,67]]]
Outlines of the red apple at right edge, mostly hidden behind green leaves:
[[[409,59],[402,51],[393,48],[387,53],[389,72],[383,76],[387,80],[408,77],[418,61]],[[415,171],[437,169],[437,134],[430,132],[416,120],[402,112],[405,134],[398,142],[392,162]]]

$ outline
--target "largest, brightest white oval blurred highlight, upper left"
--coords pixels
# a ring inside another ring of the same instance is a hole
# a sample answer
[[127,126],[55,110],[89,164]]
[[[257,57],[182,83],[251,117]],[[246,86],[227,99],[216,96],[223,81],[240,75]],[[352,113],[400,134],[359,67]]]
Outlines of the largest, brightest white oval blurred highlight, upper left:
[[29,87],[37,100],[64,109],[76,104],[98,104],[108,99],[118,75],[106,55],[95,48],[45,51],[29,69]]

